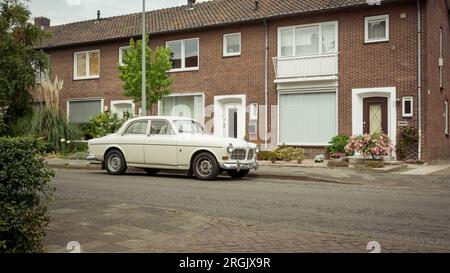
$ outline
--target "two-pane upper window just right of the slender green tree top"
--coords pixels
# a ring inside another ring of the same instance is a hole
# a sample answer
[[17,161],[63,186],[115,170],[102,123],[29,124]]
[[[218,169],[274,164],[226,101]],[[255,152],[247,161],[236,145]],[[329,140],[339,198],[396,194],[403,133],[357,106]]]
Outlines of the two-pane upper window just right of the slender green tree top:
[[198,69],[199,39],[178,40],[166,43],[172,51],[172,69],[170,71],[186,71]]

